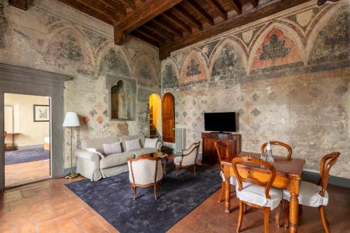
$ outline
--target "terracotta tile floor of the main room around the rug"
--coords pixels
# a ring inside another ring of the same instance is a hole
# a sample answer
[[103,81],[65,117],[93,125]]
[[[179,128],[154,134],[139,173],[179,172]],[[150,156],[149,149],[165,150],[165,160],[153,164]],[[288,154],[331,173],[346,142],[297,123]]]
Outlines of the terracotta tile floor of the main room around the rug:
[[[0,192],[0,232],[118,232],[64,186],[73,181],[61,178]],[[330,203],[326,213],[330,230],[350,232],[350,190],[332,185],[328,190]],[[237,200],[232,197],[232,213],[224,213],[224,202],[217,202],[218,195],[219,192],[214,193],[169,232],[235,232]],[[262,224],[262,211],[248,208],[241,232],[263,232]],[[276,228],[274,211],[270,214],[269,229],[288,232]],[[299,232],[322,232],[316,208],[303,207]]]

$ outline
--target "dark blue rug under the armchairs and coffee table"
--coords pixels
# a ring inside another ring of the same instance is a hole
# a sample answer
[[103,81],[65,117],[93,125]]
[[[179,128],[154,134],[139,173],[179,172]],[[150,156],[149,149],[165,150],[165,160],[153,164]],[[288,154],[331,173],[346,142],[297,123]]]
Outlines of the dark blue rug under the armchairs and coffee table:
[[129,173],[91,182],[88,179],[66,184],[80,199],[97,211],[119,232],[166,232],[205,199],[221,187],[220,170],[198,166],[180,169],[175,176],[174,164],[157,186],[157,200],[153,187],[137,188],[137,199],[129,183]]

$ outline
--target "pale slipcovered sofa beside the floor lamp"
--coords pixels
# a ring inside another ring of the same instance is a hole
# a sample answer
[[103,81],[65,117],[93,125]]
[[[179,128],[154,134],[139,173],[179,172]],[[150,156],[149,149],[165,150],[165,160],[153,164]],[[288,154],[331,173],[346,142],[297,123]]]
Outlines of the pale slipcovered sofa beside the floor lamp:
[[[139,139],[141,148],[137,150],[126,151],[125,141]],[[104,152],[103,144],[111,144],[120,141],[122,143],[123,153],[113,155],[99,156],[97,153],[87,151],[87,148],[95,148]],[[81,149],[75,151],[76,155],[76,172],[82,174],[91,181],[98,181],[102,178],[116,176],[128,171],[127,159],[136,158],[140,155],[160,152],[162,143],[158,141],[155,148],[145,148],[145,136],[141,134],[132,136],[122,136],[120,138],[110,137],[104,139],[87,139],[81,142]]]

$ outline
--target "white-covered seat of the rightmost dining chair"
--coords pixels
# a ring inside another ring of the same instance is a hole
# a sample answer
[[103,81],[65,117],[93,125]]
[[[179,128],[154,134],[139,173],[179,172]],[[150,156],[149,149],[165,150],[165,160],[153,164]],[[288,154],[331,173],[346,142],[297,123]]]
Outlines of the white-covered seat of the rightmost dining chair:
[[[328,192],[325,191],[325,197],[322,197],[318,194],[318,192],[320,192],[321,189],[321,186],[315,185],[314,183],[300,181],[299,197],[297,197],[299,200],[299,204],[311,207],[327,206]],[[283,199],[289,201],[289,190],[283,190]]]

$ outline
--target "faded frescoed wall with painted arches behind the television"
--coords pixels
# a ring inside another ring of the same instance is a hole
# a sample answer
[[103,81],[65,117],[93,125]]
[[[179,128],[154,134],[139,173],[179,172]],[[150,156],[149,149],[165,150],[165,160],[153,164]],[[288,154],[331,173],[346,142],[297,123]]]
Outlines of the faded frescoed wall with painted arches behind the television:
[[204,112],[236,111],[243,150],[283,141],[314,171],[339,151],[331,174],[350,178],[349,15],[349,1],[310,1],[172,52],[162,92],[174,94],[187,146],[201,139]]

